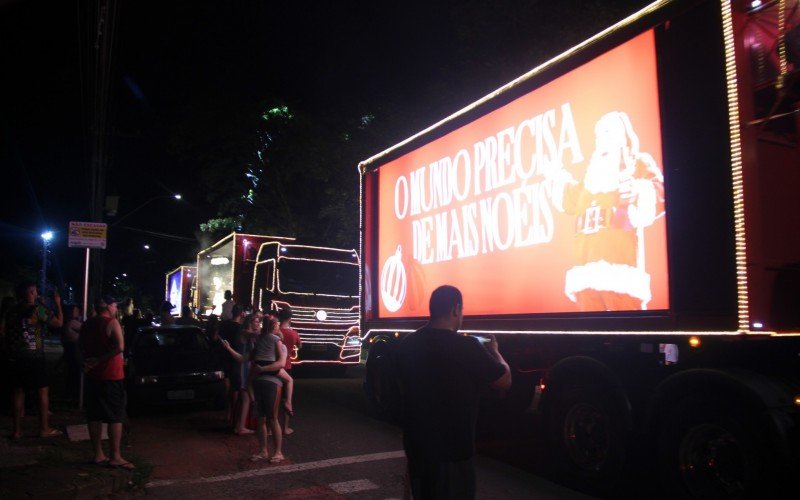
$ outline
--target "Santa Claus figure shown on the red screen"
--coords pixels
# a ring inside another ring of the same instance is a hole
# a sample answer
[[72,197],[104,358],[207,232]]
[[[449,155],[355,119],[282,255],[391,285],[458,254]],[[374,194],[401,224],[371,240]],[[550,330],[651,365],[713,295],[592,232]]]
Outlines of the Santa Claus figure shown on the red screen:
[[664,176],[639,151],[628,115],[613,111],[595,125],[595,151],[581,182],[564,192],[575,216],[574,265],[564,292],[581,311],[647,309],[644,228],[664,214]]

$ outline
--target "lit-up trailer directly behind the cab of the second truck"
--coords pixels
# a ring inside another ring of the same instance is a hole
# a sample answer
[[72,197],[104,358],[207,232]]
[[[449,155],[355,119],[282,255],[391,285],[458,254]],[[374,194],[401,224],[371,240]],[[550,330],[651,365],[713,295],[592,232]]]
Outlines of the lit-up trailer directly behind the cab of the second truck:
[[231,233],[197,254],[197,307],[200,314],[219,315],[225,291],[241,306],[252,305],[251,286],[256,256],[262,243],[294,238]]

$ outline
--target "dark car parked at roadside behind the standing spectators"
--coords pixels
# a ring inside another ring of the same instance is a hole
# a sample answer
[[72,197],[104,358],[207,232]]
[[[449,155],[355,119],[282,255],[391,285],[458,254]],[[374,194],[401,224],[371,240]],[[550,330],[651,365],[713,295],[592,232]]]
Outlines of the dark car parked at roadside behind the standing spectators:
[[201,328],[140,328],[126,349],[128,399],[133,407],[179,403],[225,406],[222,360]]

